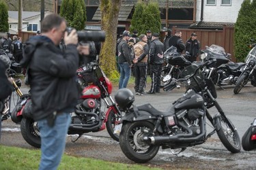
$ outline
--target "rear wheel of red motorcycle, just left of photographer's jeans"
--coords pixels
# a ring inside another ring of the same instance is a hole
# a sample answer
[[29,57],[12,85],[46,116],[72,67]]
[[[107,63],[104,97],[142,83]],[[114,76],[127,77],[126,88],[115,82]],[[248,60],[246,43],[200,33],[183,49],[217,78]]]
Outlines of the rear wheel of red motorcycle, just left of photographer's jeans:
[[35,148],[41,147],[40,132],[38,130],[38,123],[32,118],[23,118],[20,122],[21,135],[27,143]]

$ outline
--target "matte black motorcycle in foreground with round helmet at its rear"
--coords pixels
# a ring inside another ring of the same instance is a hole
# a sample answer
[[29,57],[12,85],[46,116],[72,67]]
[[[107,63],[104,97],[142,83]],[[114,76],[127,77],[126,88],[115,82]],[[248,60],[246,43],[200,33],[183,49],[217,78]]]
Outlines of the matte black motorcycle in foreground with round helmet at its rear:
[[[212,80],[203,74],[203,67],[213,64],[192,63],[186,67],[177,83],[184,84],[186,93],[177,99],[165,112],[150,103],[132,105],[134,96],[128,89],[120,89],[115,100],[126,114],[122,117],[122,131],[119,145],[127,158],[136,163],[145,163],[162,149],[171,148],[179,154],[189,146],[204,143],[214,133],[232,153],[240,152],[241,141],[236,127],[227,118],[216,101],[216,88]],[[211,116],[210,107],[215,106],[218,114]],[[213,125],[213,131],[206,133],[206,118]]]

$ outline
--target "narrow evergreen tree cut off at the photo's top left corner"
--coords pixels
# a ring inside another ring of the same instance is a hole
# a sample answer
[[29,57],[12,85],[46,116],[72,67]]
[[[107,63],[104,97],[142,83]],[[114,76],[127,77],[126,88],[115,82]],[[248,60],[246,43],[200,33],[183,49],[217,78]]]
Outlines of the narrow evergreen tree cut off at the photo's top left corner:
[[3,0],[0,0],[0,9],[0,32],[8,32],[8,6]]

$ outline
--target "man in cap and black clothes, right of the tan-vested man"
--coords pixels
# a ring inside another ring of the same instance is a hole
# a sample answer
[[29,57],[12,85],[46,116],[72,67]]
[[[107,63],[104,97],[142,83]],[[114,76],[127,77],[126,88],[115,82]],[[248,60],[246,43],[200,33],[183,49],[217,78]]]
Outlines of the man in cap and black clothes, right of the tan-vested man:
[[152,81],[151,88],[147,92],[148,94],[160,92],[160,72],[162,70],[162,63],[164,63],[164,44],[162,44],[158,37],[158,33],[153,33],[152,42],[150,44],[149,63]]

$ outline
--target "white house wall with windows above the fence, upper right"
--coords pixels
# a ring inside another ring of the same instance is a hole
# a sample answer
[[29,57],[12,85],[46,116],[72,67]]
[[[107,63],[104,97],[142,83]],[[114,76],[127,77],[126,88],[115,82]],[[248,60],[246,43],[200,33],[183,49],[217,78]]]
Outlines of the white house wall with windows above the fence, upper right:
[[[203,7],[202,5],[203,1]],[[197,0],[196,21],[234,24],[244,0]],[[201,14],[203,10],[203,15]]]

